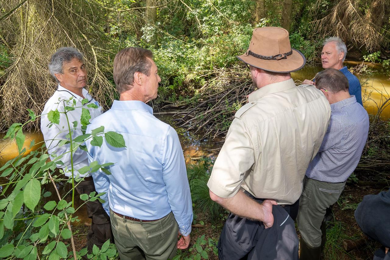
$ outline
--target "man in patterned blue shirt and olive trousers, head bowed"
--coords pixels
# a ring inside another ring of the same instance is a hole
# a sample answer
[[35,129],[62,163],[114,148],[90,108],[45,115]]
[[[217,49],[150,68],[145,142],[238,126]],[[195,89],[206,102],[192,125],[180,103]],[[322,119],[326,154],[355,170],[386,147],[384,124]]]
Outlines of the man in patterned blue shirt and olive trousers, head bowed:
[[339,199],[358,165],[369,130],[367,111],[349,94],[348,80],[341,71],[321,71],[316,87],[328,99],[332,114],[321,147],[306,171],[300,197],[297,222],[301,260],[320,259],[326,209]]

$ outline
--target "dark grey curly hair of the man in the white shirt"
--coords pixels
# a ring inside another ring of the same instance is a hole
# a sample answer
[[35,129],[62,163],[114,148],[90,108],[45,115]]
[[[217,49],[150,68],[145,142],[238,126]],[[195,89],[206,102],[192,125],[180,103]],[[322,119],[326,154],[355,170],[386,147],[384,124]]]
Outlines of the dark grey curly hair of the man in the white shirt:
[[84,54],[73,47],[59,48],[53,55],[51,55],[48,67],[50,74],[55,78],[55,80],[57,80],[55,74],[62,74],[64,72],[62,70],[64,62],[70,62],[74,58],[78,59],[79,61],[83,61]]

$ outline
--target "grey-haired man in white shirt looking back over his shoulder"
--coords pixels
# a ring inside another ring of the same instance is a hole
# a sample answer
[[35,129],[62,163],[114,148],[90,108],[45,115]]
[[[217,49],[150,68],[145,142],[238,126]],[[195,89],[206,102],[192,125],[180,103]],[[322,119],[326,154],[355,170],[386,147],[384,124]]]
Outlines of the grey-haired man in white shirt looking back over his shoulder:
[[[61,141],[69,140],[70,133],[72,139],[83,134],[88,123],[81,122],[82,113],[87,118],[94,119],[102,113],[102,108],[84,88],[87,83],[87,69],[82,53],[71,47],[59,48],[51,56],[48,67],[58,85],[53,96],[46,102],[41,116],[41,131],[46,148],[51,160],[57,160],[60,172],[63,171],[69,178],[81,178],[81,181],[76,183],[77,192],[90,194],[95,192],[92,176],[78,171],[89,165],[87,152],[78,148],[73,151],[71,157],[70,143]],[[59,123],[53,123],[53,119],[49,120],[51,111],[59,112]],[[59,156],[62,157],[58,160]],[[95,200],[88,201],[86,205],[87,215],[92,219],[87,235],[87,249],[91,252],[94,245],[100,248],[108,239],[113,242],[113,236],[110,217],[101,203]]]

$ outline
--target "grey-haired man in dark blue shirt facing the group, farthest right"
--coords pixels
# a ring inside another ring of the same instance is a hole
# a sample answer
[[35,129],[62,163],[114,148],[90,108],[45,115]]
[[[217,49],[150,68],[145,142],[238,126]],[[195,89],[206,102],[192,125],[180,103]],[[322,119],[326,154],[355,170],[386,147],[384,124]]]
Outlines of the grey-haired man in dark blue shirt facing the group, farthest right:
[[[349,72],[347,66],[343,66],[343,62],[347,55],[347,46],[339,37],[329,37],[323,43],[323,48],[321,52],[321,62],[324,69],[339,69],[344,76],[347,78],[349,83],[349,94],[356,97],[356,101],[363,105],[362,103],[362,87],[360,82],[355,75]],[[316,83],[312,80],[304,80],[303,84],[313,84]]]

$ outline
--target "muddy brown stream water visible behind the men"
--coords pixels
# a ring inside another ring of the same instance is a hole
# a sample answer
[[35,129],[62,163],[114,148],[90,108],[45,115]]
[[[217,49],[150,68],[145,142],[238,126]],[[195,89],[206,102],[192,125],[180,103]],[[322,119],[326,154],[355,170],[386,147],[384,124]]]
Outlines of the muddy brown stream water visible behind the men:
[[[347,66],[356,66],[359,62],[349,61],[346,62]],[[370,65],[372,70],[380,70],[380,65],[374,64]],[[303,81],[304,79],[312,79],[317,72],[321,71],[321,66],[306,66],[298,72],[291,73],[294,80]],[[363,96],[363,106],[369,112],[369,114],[376,114],[378,111],[378,106],[383,104],[383,102],[390,98],[390,80],[389,77],[384,75],[383,73],[373,73],[372,77],[365,78],[360,75],[357,75],[360,82],[362,83],[362,96]],[[385,107],[381,114],[383,119],[390,118],[390,108]],[[162,121],[168,123],[169,125],[174,126],[175,122],[170,116],[161,116],[159,115]],[[177,133],[179,134],[179,138],[182,144],[184,158],[186,160],[186,164],[191,164],[197,162],[199,158],[202,157],[215,157],[216,155],[213,153],[213,150],[219,148],[222,145],[223,139],[214,139],[214,140],[200,140],[202,135],[196,135],[192,132],[188,132],[183,128],[176,128]],[[24,148],[26,149],[26,155],[30,153],[30,151],[34,151],[38,149],[43,142],[43,135],[41,132],[25,132],[26,141],[24,144]],[[30,148],[30,143],[34,140],[35,145]],[[0,166],[2,166],[8,160],[16,157],[18,155],[18,148],[14,141],[3,140],[0,142]],[[0,180],[1,183],[6,182],[6,180]],[[66,181],[58,182],[57,189],[59,190],[61,196],[71,189],[71,183]],[[50,191],[51,196],[45,198],[45,201],[56,200],[58,198],[56,196],[55,189],[51,183],[48,183],[43,186],[45,191]],[[71,201],[71,194],[68,194],[64,197],[67,201]],[[43,202],[43,205],[45,203]],[[78,208],[83,204],[83,201],[80,199],[80,196],[75,193],[75,208]],[[86,206],[83,205],[74,215],[78,216],[80,219],[80,224],[90,223],[90,219],[86,214]]]

